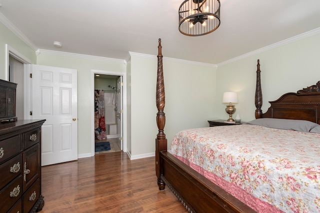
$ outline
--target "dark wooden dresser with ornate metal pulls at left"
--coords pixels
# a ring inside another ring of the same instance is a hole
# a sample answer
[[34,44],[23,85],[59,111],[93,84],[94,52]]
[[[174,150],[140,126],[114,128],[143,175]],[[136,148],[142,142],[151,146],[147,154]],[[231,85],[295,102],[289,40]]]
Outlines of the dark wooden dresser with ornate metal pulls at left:
[[0,212],[42,210],[41,126],[45,120],[0,124]]

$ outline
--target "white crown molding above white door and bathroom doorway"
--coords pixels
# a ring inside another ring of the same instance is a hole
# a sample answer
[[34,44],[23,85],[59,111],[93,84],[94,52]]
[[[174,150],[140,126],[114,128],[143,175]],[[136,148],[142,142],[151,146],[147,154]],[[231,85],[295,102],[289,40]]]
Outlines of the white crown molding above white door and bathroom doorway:
[[37,55],[39,55],[41,53],[50,54],[50,55],[70,56],[70,57],[84,58],[84,59],[102,60],[102,61],[109,61],[109,62],[126,64],[126,61],[122,60],[122,59],[107,58],[107,57],[94,56],[94,55],[84,55],[84,54],[71,53],[71,52],[60,52],[60,51],[47,50],[47,49],[37,49],[36,50]]

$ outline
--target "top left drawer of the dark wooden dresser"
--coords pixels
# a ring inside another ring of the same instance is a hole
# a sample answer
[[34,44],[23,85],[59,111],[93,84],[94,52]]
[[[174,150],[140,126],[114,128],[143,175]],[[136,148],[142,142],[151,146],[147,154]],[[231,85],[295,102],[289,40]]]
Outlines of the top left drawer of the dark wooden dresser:
[[19,135],[0,141],[0,163],[18,154],[21,150]]

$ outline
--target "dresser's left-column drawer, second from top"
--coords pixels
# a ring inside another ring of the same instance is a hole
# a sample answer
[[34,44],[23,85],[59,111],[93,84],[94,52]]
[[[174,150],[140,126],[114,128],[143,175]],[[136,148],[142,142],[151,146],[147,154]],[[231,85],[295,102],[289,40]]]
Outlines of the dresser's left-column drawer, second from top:
[[0,174],[1,174],[0,190],[5,185],[10,183],[14,178],[19,176],[21,174],[22,168],[23,166],[22,166],[21,154],[1,164],[0,165]]

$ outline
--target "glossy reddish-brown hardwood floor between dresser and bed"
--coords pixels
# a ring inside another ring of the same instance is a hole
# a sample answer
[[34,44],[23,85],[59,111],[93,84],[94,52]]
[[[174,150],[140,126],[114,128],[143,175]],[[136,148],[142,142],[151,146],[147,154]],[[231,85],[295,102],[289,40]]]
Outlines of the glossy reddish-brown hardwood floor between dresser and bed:
[[187,213],[169,189],[159,191],[154,157],[99,154],[42,167],[40,213]]

